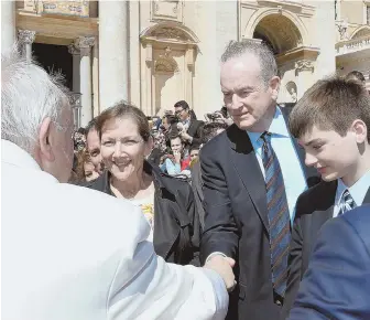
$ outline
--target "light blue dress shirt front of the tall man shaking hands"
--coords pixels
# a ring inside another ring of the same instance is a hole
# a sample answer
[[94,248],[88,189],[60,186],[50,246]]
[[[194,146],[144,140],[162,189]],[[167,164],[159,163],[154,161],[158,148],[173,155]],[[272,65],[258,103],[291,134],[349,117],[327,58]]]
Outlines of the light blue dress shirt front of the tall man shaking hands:
[[[276,107],[276,111],[270,125],[269,132],[271,134],[272,148],[275,151],[282,170],[291,222],[293,224],[296,201],[300,194],[307,189],[307,183],[298,154],[294,148],[292,137],[287,130],[284,116],[279,107]],[[263,142],[260,139],[263,132],[247,131],[247,134],[253,146],[263,178],[265,178],[261,153]]]

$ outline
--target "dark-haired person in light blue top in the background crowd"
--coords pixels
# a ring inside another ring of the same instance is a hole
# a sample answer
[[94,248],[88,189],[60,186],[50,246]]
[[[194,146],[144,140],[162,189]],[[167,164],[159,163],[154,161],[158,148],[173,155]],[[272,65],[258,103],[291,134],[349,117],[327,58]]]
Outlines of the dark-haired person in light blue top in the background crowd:
[[168,175],[185,174],[188,175],[191,158],[184,156],[185,145],[181,136],[170,137],[172,154],[164,156],[164,162],[161,170]]

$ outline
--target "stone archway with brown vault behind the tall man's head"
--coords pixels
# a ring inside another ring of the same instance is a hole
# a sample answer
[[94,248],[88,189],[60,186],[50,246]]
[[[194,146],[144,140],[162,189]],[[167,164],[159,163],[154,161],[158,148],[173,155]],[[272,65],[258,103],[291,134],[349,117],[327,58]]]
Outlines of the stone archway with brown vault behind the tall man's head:
[[281,77],[279,103],[293,103],[315,82],[319,50],[309,45],[307,30],[294,12],[261,8],[248,20],[243,38],[262,41],[274,53]]

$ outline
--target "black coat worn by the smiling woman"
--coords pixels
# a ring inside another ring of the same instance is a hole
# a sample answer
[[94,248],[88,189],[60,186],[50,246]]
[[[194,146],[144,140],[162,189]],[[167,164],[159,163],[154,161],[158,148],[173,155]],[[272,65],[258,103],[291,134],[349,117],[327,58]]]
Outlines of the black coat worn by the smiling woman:
[[[163,174],[148,161],[144,161],[144,171],[153,175],[155,188],[155,253],[168,263],[199,266],[200,225],[191,185]],[[106,171],[86,186],[113,195],[109,177],[110,173]]]

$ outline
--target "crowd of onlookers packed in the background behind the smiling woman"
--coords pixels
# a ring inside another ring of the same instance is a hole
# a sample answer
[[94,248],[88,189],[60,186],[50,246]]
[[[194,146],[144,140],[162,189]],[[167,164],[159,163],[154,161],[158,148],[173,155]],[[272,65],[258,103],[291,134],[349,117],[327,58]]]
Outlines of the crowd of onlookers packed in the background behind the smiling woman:
[[[121,105],[132,107],[124,102]],[[99,117],[75,132],[75,161],[70,177],[73,183],[95,180],[102,172],[105,164],[96,130]],[[192,180],[192,168],[198,161],[203,145],[232,124],[225,107],[207,114],[206,121],[198,120],[185,100],[179,100],[172,109],[165,110],[162,118],[148,117],[142,113],[140,117],[143,122],[148,121],[151,151],[146,159],[160,167],[161,172],[188,181]]]

